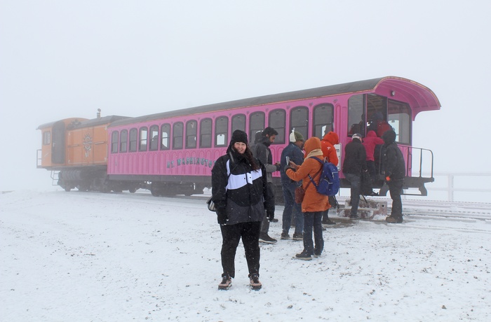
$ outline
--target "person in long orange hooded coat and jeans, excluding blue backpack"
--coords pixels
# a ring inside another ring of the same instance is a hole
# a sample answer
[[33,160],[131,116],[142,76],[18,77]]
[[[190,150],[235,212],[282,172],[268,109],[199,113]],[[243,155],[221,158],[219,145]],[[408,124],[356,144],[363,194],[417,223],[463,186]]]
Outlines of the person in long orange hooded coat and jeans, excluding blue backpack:
[[[330,208],[328,195],[322,195],[317,192],[316,186],[321,179],[323,163],[311,158],[323,158],[321,140],[318,137],[311,137],[304,144],[304,150],[307,153],[302,165],[290,165],[285,167],[286,175],[293,181],[302,181],[304,189],[304,199],[302,200],[302,213],[304,214],[304,249],[302,253],[295,255],[300,260],[311,260],[312,255],[318,257],[324,249],[324,239],[322,235],[322,213]],[[309,178],[310,176],[310,178]],[[312,241],[312,230],[314,230],[314,242]]]

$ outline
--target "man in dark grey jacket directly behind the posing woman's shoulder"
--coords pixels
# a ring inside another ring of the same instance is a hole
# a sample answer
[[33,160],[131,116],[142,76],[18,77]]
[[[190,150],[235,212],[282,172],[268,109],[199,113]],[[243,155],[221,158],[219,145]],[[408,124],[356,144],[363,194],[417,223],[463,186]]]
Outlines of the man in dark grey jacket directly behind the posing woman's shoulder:
[[[271,196],[271,198],[273,199],[272,202],[274,202],[274,184],[272,173],[275,171],[279,171],[280,163],[277,162],[276,164],[273,164],[273,155],[271,155],[271,150],[269,149],[269,146],[271,146],[271,144],[274,142],[274,139],[276,139],[276,135],[278,135],[278,132],[276,132],[276,130],[274,130],[274,128],[272,127],[266,127],[264,130],[262,130],[261,135],[261,139],[254,146],[253,155],[255,158],[257,158],[257,160],[260,160],[262,162],[264,167],[266,167],[269,196]],[[269,220],[264,217],[261,225],[261,234],[259,237],[259,241],[267,244],[276,243],[277,240],[269,237],[268,231]]]

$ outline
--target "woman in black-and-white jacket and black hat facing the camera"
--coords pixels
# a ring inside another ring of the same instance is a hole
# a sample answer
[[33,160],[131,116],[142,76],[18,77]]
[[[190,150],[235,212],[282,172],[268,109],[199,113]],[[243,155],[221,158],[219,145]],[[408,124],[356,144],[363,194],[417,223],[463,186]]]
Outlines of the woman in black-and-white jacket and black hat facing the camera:
[[234,131],[227,154],[218,158],[211,170],[212,200],[222,231],[223,274],[219,289],[229,288],[235,277],[235,254],[241,239],[250,286],[261,288],[259,235],[264,213],[269,220],[274,218],[274,200],[268,195],[264,165],[253,157],[247,142],[245,132]]

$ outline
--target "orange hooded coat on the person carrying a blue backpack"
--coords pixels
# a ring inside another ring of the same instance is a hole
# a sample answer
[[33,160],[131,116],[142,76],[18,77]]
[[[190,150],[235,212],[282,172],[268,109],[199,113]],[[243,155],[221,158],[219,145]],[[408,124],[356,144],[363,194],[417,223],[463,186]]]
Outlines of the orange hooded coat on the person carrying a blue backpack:
[[[321,140],[319,140],[318,137],[311,137],[305,141],[304,149],[307,153],[307,158],[304,160],[304,163],[297,166],[296,172],[292,169],[287,169],[286,175],[293,181],[302,180],[302,188],[305,189],[305,187],[308,186],[305,191],[304,201],[302,202],[302,212],[325,211],[330,208],[329,198],[328,196],[321,195],[317,192],[316,186],[314,186],[314,183],[311,183],[308,176],[310,174],[316,183],[319,182],[321,177],[321,173],[319,172],[322,167],[321,162],[309,158],[311,156],[316,156],[322,160]],[[317,172],[319,173],[317,174]]]

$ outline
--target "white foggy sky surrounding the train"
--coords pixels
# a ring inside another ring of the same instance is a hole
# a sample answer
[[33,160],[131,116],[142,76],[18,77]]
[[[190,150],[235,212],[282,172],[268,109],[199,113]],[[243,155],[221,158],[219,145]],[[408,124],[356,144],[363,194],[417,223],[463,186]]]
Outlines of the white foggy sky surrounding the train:
[[489,172],[489,1],[0,0],[0,190],[51,189],[36,127],[383,76],[429,87],[413,144]]

